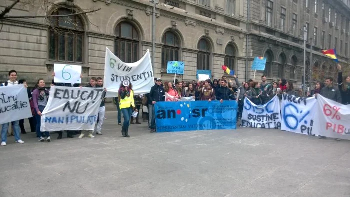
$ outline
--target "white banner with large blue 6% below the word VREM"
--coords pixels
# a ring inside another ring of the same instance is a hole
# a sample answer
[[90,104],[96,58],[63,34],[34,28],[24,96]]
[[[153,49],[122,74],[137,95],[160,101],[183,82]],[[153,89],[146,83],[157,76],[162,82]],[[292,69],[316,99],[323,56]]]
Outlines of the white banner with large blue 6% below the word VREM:
[[317,112],[316,102],[315,97],[305,98],[283,94],[281,130],[318,135],[318,130],[313,129],[314,114]]

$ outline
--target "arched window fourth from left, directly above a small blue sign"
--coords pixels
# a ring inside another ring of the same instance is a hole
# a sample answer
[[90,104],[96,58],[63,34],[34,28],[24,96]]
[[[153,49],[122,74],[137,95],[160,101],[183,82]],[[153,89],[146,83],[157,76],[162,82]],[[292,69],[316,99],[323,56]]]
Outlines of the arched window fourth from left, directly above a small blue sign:
[[210,45],[206,39],[202,38],[198,43],[197,69],[210,70]]

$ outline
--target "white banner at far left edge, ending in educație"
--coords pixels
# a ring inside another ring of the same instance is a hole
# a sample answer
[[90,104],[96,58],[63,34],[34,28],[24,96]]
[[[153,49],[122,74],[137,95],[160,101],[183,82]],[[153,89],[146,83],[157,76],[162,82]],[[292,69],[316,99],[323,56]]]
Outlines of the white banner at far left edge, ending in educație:
[[32,114],[24,85],[0,87],[0,124],[29,117]]

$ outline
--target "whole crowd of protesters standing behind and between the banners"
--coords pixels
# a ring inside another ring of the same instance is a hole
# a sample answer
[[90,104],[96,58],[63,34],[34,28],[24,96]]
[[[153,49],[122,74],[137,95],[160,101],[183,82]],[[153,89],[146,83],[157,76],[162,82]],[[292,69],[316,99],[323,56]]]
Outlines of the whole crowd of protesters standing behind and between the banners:
[[[316,96],[318,94],[342,103],[344,105],[350,104],[350,76],[343,76],[341,66],[338,64],[338,79],[337,86],[333,85],[333,78],[327,77],[325,82],[317,82],[313,91],[307,91],[307,97]],[[55,73],[52,73],[55,76]],[[17,72],[11,70],[8,73],[9,80],[2,83],[1,86],[14,86],[17,84],[24,84],[27,88],[25,80],[17,81]],[[82,77],[82,76],[80,76]],[[273,81],[272,83],[267,82],[266,76],[261,77],[260,80],[250,79],[240,84],[236,75],[230,76],[232,80],[227,80],[226,76],[222,76],[221,79],[210,79],[205,81],[193,80],[191,82],[185,81],[169,81],[162,82],[161,78],[154,78],[155,85],[150,89],[148,94],[135,95],[132,89],[130,81],[124,80],[118,91],[118,97],[113,99],[117,106],[117,122],[118,125],[122,125],[121,133],[124,137],[130,137],[129,125],[130,124],[141,124],[139,120],[138,111],[142,110],[142,118],[144,122],[148,122],[148,128],[150,132],[156,132],[155,125],[155,110],[154,105],[156,102],[165,101],[165,92],[175,98],[181,97],[193,97],[196,101],[213,101],[218,100],[221,103],[226,100],[236,100],[238,102],[238,119],[241,118],[243,112],[244,99],[247,97],[256,105],[264,105],[274,96],[282,98],[282,94],[303,96],[302,91],[297,92],[294,89],[292,81],[287,81],[284,78]],[[51,86],[68,86],[68,87],[81,87],[80,84],[70,83],[56,83],[52,79]],[[47,105],[49,90],[46,87],[46,83],[43,79],[39,79],[37,84],[32,91],[27,88],[28,98],[32,110],[33,117],[30,117],[29,124],[31,132],[36,132],[36,137],[39,141],[51,141],[49,132],[40,131],[40,120],[42,112]],[[103,87],[103,79],[101,77],[90,78],[89,84],[86,86],[89,88],[101,88]],[[107,91],[105,89],[105,91]],[[135,117],[132,116],[133,112],[137,112]],[[121,122],[121,114],[123,115],[124,121]],[[74,135],[79,134],[79,138],[87,136],[94,138],[94,134],[102,135],[101,128],[105,120],[105,103],[102,100],[99,110],[96,129],[91,131],[66,131],[68,138],[73,138]],[[134,122],[135,120],[135,122]],[[13,134],[17,143],[24,143],[20,138],[20,134],[26,134],[24,128],[24,120],[17,120],[11,123],[2,124],[1,130],[1,145],[5,146],[7,142],[7,136],[11,135],[9,131],[9,124],[12,125]],[[57,131],[58,138],[62,139],[62,133],[64,131]],[[322,138],[322,136],[321,136]]]

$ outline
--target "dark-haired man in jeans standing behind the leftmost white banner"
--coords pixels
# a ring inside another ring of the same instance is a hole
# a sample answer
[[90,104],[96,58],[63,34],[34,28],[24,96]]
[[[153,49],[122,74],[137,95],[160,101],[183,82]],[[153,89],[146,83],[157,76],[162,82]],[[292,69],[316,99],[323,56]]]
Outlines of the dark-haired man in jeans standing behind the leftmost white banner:
[[[13,85],[18,85],[17,81],[17,71],[15,70],[10,70],[8,72],[8,78],[9,80],[2,83],[1,86],[13,86]],[[26,84],[24,84],[25,88],[28,88]],[[19,120],[12,121],[13,124],[13,130],[14,130],[14,138],[17,143],[23,144],[24,141],[20,139],[20,129],[19,129]],[[2,124],[1,128],[1,146],[6,146],[7,145],[7,131],[8,131],[8,125],[9,123],[4,123]]]

